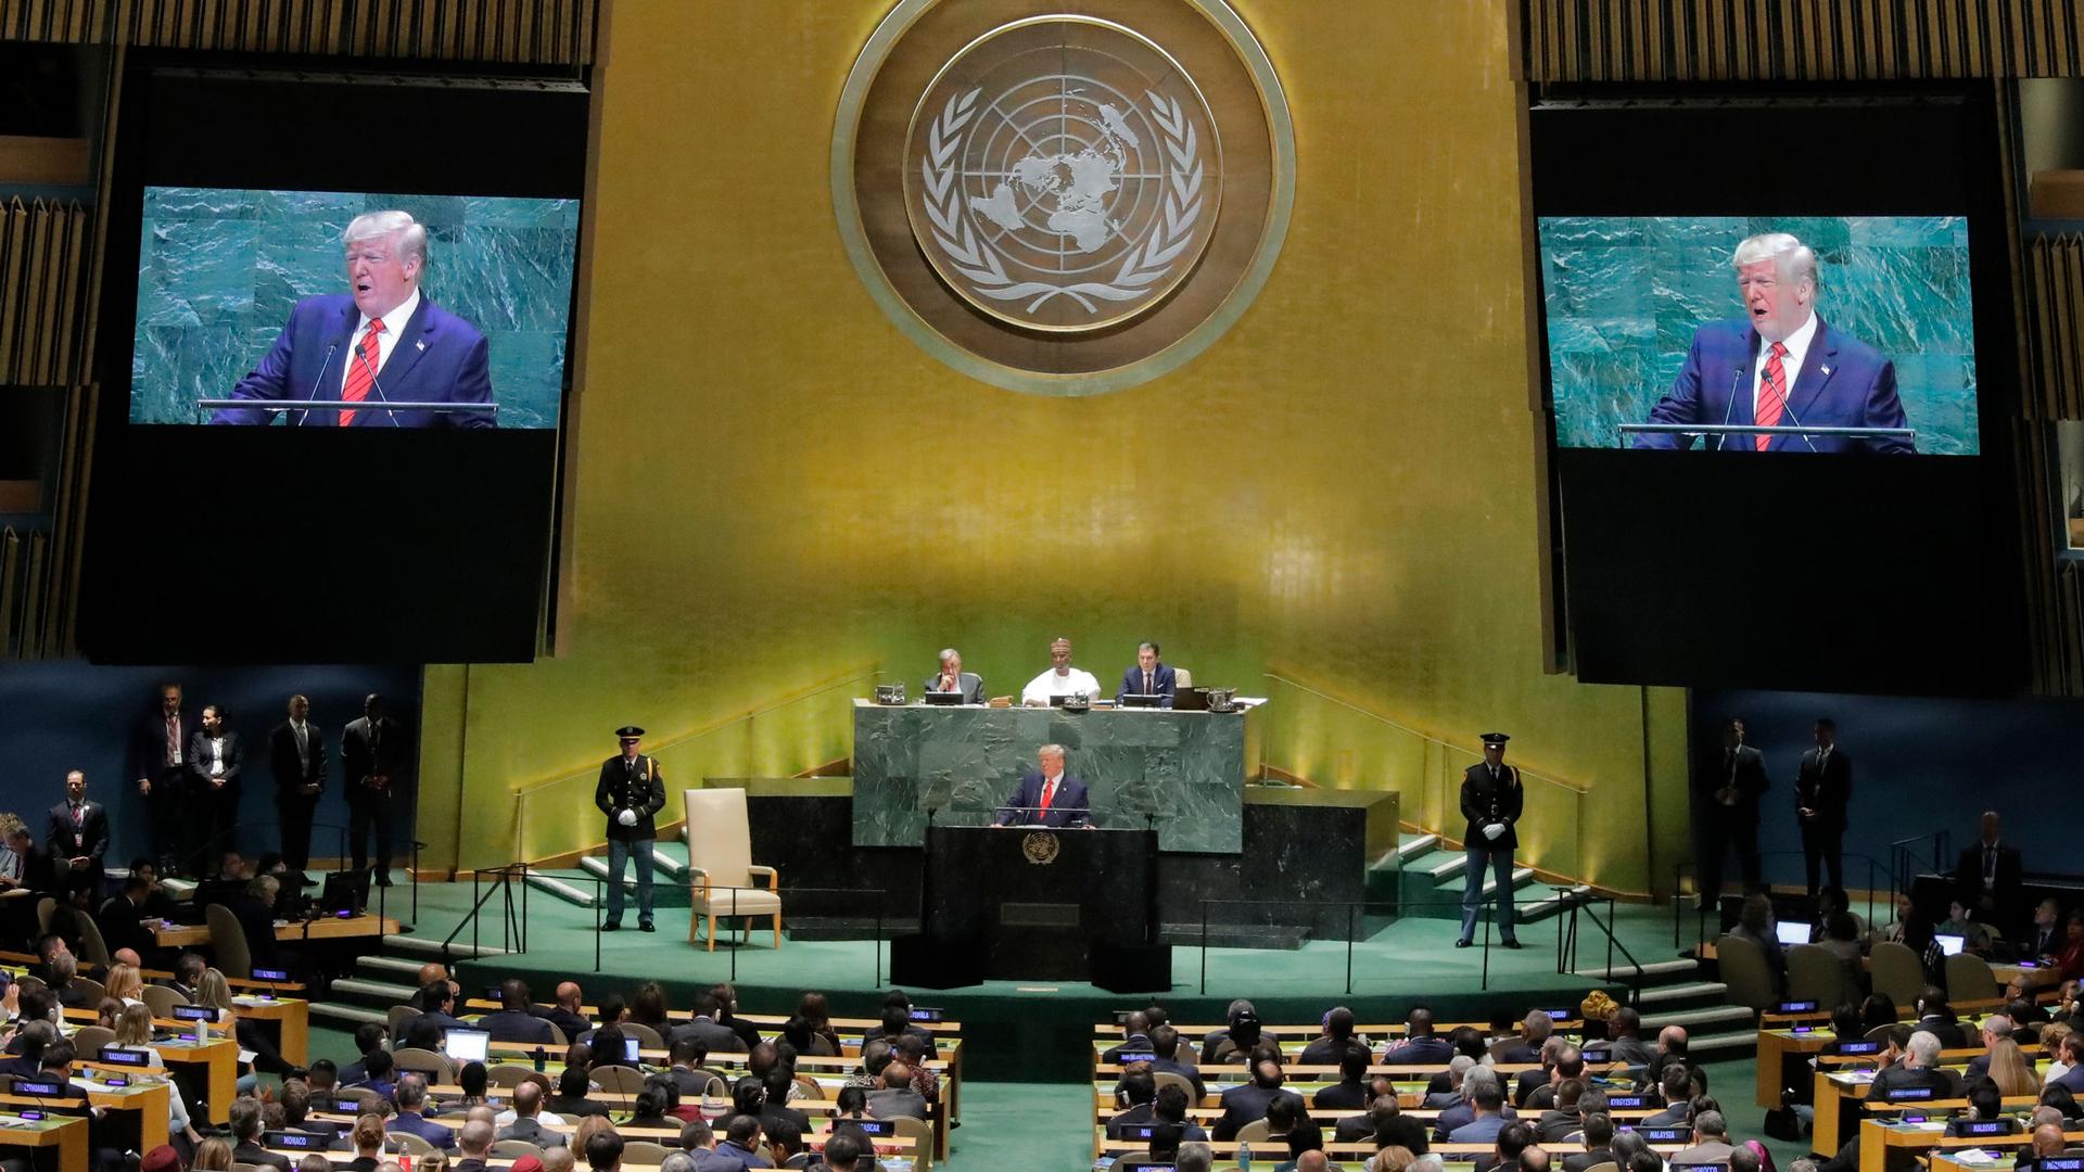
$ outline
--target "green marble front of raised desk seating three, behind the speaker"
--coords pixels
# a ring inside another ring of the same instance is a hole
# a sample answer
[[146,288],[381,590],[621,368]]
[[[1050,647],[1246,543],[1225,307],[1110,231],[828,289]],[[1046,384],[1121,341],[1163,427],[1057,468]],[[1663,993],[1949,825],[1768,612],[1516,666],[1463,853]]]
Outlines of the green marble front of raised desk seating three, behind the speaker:
[[[1257,711],[1257,709],[1255,709]],[[984,826],[1065,747],[1100,826],[1157,815],[1159,851],[1244,849],[1246,713],[1171,709],[988,709],[854,701],[854,847],[923,847],[936,826]]]

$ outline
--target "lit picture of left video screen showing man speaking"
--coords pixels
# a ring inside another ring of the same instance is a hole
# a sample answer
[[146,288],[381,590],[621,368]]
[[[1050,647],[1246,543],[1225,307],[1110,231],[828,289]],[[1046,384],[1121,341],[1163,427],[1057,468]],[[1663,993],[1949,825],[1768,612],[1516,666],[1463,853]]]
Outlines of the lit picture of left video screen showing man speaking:
[[129,421],[556,428],[577,236],[571,198],[146,188]]

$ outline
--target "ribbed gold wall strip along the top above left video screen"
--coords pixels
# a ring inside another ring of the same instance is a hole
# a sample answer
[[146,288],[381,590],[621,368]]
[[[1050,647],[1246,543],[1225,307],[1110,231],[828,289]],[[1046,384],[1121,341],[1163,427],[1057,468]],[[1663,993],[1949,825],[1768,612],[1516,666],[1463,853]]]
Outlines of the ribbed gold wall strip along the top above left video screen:
[[0,38],[586,65],[598,0],[0,0]]

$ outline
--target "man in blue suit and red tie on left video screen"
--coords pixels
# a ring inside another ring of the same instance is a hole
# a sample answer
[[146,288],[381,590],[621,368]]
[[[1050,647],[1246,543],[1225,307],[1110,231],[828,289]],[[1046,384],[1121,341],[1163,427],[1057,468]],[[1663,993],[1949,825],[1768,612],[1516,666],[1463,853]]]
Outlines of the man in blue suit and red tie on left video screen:
[[[492,411],[394,411],[388,402],[492,402],[490,346],[419,292],[427,227],[402,211],[354,217],[346,294],[306,296],[231,398],[367,402],[286,411],[292,428],[492,428]],[[277,411],[223,407],[210,423],[271,423]]]

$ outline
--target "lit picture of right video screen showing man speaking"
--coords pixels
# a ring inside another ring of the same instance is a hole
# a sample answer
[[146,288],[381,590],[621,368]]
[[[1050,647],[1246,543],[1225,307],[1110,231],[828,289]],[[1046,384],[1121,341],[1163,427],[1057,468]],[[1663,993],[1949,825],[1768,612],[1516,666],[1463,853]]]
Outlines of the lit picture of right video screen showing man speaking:
[[1538,231],[1559,446],[1980,448],[1965,217],[1555,215]]

